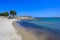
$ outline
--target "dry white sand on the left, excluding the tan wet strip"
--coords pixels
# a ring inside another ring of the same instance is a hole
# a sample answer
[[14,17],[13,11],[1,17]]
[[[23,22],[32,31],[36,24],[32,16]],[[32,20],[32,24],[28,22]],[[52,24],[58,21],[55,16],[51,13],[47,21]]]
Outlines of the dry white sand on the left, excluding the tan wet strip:
[[12,25],[15,20],[0,18],[0,40],[22,40]]

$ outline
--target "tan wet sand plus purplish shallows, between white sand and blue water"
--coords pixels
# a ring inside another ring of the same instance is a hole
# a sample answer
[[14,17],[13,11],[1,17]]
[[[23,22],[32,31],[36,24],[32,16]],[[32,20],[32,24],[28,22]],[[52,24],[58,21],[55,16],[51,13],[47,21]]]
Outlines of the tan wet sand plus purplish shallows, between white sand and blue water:
[[34,28],[25,29],[20,24],[17,25],[17,21],[14,21],[12,24],[14,28],[18,31],[18,35],[20,35],[23,40],[57,40],[57,39],[59,40],[60,39],[58,35],[51,34],[49,32],[44,32],[44,30],[38,30]]

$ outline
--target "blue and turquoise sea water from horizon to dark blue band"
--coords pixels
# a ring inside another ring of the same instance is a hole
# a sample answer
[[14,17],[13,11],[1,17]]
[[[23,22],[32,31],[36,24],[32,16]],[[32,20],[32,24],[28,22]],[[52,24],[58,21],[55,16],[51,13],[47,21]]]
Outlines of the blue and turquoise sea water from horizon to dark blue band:
[[60,18],[39,18],[36,20],[21,20],[19,23],[23,27],[32,27],[48,30],[60,34]]

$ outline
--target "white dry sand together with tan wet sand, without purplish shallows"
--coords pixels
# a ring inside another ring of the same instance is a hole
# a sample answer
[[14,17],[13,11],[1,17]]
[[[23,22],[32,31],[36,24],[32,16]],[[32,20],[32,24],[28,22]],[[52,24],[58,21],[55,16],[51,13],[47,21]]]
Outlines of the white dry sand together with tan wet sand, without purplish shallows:
[[0,40],[37,40],[24,28],[19,28],[16,21],[17,19],[0,18]]

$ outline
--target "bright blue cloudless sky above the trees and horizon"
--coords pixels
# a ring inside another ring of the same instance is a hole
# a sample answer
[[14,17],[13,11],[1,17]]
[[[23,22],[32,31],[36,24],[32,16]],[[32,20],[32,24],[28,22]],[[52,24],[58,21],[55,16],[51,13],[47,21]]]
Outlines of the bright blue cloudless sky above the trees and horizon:
[[60,17],[60,0],[0,0],[0,12],[10,10],[18,16]]

